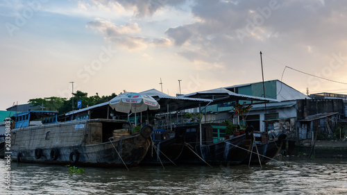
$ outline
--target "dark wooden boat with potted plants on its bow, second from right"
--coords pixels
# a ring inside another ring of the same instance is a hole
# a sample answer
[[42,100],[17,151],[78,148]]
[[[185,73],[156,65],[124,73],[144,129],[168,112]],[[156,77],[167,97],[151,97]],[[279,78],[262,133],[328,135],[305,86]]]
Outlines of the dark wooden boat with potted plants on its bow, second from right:
[[212,142],[212,126],[202,124],[202,142],[200,142],[199,126],[188,126],[185,135],[186,148],[181,155],[180,162],[202,164],[239,164],[248,155],[250,139],[246,139],[251,132],[230,137],[220,142]]

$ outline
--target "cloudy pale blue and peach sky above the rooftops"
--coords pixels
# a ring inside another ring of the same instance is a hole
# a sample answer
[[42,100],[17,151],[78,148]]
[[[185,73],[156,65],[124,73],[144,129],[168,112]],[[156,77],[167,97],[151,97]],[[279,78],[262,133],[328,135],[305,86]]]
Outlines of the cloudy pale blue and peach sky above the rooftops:
[[0,110],[72,86],[175,96],[261,82],[260,51],[264,80],[347,94],[346,13],[347,1],[0,0]]

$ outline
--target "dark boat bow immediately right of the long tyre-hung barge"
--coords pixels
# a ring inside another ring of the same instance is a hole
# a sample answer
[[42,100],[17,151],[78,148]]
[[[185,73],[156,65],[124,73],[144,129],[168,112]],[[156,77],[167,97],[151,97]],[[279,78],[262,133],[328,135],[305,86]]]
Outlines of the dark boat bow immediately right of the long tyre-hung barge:
[[174,132],[154,129],[149,151],[141,164],[175,164],[185,147],[185,128],[176,128]]

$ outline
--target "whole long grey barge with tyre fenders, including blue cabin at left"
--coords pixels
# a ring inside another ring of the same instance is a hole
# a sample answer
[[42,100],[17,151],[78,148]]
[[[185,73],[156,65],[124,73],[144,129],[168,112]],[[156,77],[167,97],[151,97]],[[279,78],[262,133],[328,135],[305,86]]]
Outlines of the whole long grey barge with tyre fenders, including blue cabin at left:
[[[31,111],[15,115],[11,130],[11,158],[17,162],[85,164],[106,167],[136,165],[150,145],[153,128],[145,126],[137,135],[127,121],[90,119],[57,122],[57,112]],[[29,126],[32,119],[42,125]],[[115,133],[116,131],[116,133]]]

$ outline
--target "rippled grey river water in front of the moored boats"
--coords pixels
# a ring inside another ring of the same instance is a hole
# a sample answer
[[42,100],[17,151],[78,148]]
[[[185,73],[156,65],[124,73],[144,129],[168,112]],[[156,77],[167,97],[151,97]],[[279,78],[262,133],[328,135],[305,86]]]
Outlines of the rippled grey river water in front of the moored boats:
[[346,159],[282,159],[260,166],[96,168],[0,160],[0,194],[347,194]]

